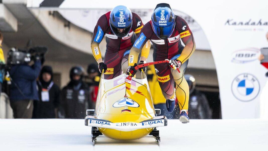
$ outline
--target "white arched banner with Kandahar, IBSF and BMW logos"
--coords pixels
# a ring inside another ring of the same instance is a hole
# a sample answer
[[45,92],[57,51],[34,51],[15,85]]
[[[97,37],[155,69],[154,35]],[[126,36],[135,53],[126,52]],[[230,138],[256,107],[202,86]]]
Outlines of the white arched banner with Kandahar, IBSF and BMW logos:
[[[28,1],[33,3],[33,0]],[[28,5],[28,1],[27,7],[39,7]],[[267,81],[265,77],[267,69],[260,65],[257,57],[260,48],[268,47],[265,37],[268,32],[268,1],[255,0],[252,3],[252,1],[233,0],[135,0],[131,3],[129,1],[116,3],[104,0],[75,2],[65,0],[59,8],[111,10],[117,5],[126,5],[130,9],[152,11],[161,2],[169,3],[173,10],[191,16],[204,31],[217,70],[222,118],[258,118],[260,93]],[[98,15],[101,14],[103,13]],[[95,23],[92,24],[95,26]],[[198,34],[193,35],[196,47],[202,47],[203,43],[199,43],[199,39],[196,39]]]

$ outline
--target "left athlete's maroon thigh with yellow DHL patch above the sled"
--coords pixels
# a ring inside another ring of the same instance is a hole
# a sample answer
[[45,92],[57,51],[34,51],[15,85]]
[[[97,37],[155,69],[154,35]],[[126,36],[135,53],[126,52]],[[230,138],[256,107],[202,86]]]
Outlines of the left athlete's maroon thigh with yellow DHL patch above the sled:
[[111,52],[106,50],[104,63],[107,65],[107,71],[104,73],[104,79],[113,79],[121,75],[121,60],[123,54],[121,52]]

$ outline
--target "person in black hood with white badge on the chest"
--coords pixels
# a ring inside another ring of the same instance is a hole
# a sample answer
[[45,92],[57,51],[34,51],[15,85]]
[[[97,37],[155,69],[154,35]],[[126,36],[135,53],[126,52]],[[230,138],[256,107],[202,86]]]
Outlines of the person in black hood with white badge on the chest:
[[60,90],[53,82],[53,71],[50,66],[44,66],[38,81],[39,101],[34,101],[33,118],[51,119],[57,117]]

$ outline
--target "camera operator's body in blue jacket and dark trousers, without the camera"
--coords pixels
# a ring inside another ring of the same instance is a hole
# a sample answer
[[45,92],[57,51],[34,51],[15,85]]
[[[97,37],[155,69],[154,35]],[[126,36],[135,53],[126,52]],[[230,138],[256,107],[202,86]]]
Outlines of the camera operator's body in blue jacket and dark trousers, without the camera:
[[10,105],[14,112],[14,118],[32,118],[33,100],[39,100],[36,79],[40,69],[40,58],[36,58],[32,66],[19,64],[11,67],[9,72],[12,78]]

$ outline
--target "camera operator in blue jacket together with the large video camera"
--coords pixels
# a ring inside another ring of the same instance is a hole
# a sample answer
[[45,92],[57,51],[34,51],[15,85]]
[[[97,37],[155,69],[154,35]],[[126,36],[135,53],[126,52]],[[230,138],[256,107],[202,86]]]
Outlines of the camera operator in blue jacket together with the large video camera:
[[[33,101],[39,100],[36,79],[41,69],[41,56],[37,53],[46,51],[44,47],[35,47],[27,50],[12,48],[9,51],[8,65],[10,65],[10,105],[13,109],[14,118],[31,119],[33,113]],[[33,65],[30,65],[33,62]]]

